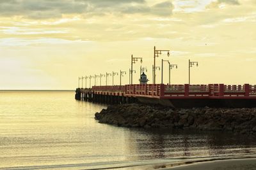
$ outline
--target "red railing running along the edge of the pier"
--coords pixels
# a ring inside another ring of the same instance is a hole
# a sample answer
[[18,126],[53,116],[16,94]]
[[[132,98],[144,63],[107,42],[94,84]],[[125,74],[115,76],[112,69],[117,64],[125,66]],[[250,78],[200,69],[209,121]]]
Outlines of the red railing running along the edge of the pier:
[[122,92],[125,96],[134,97],[256,97],[256,85],[115,85],[93,86],[92,91]]

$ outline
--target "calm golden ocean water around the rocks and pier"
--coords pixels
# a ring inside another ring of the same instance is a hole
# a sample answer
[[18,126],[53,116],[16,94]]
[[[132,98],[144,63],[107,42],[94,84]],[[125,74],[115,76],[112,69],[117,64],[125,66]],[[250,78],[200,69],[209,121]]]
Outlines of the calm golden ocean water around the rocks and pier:
[[74,92],[0,92],[0,169],[100,169],[253,155],[256,139],[221,132],[99,124],[104,104]]

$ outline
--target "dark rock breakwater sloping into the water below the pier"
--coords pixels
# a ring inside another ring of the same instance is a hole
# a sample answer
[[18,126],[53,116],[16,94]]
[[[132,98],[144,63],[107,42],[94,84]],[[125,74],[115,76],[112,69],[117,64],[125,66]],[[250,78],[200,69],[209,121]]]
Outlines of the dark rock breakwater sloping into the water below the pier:
[[256,134],[256,108],[173,109],[144,104],[111,105],[95,119],[122,127],[198,129]]

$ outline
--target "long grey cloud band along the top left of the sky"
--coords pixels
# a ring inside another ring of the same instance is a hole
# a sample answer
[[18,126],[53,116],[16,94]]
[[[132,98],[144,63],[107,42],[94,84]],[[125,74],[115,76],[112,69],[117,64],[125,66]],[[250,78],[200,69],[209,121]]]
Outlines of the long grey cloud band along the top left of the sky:
[[171,15],[171,1],[149,5],[145,0],[1,0],[0,15],[33,19],[61,18],[62,15],[108,15],[142,13]]

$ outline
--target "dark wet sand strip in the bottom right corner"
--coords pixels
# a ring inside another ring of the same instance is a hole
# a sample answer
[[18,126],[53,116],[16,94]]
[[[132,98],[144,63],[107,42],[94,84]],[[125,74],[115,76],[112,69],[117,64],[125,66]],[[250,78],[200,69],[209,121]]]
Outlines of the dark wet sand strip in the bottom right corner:
[[230,160],[214,160],[211,162],[200,162],[177,167],[159,168],[170,170],[255,170],[256,159],[230,159]]

